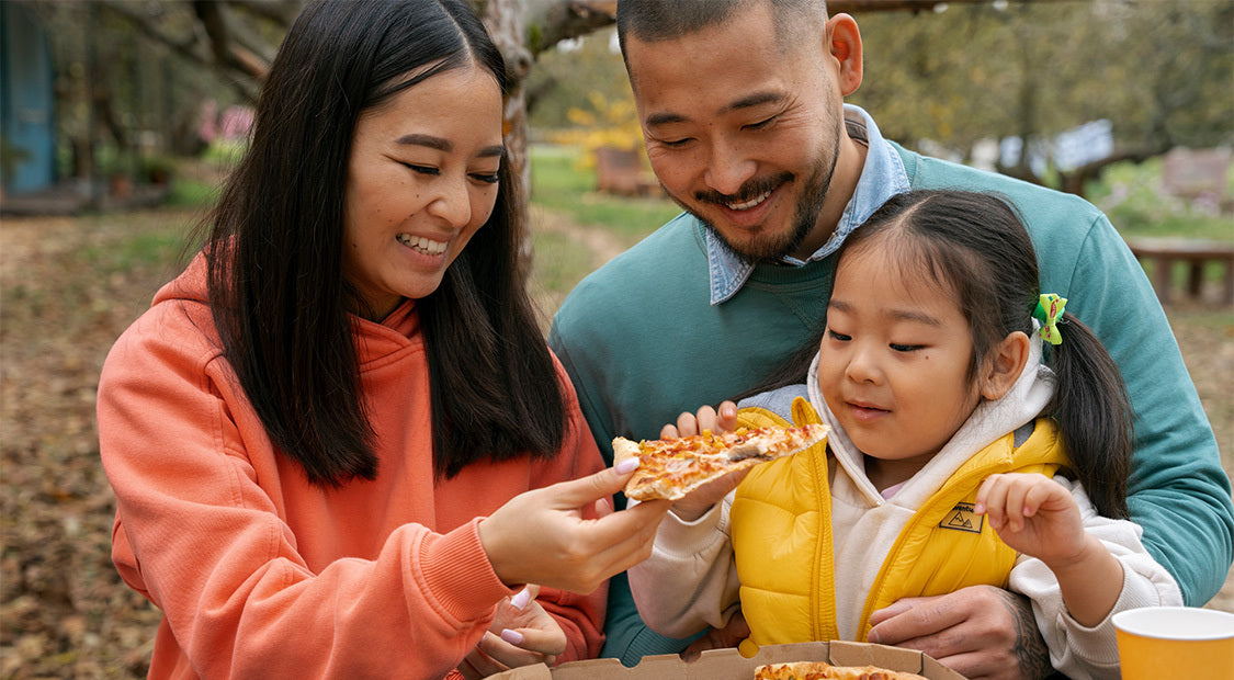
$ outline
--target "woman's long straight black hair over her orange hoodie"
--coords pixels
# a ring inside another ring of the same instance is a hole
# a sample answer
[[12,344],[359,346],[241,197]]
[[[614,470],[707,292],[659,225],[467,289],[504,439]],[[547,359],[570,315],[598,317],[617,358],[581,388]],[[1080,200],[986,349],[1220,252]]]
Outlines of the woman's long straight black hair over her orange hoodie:
[[[204,253],[226,355],[270,439],[313,484],[378,471],[352,333],[352,315],[365,310],[342,268],[357,120],[471,65],[508,93],[501,53],[459,0],[310,5],[279,49],[249,151],[211,214]],[[518,267],[521,201],[503,160],[489,221],[416,302],[434,464],[447,478],[478,460],[549,458],[565,436],[563,386]]]

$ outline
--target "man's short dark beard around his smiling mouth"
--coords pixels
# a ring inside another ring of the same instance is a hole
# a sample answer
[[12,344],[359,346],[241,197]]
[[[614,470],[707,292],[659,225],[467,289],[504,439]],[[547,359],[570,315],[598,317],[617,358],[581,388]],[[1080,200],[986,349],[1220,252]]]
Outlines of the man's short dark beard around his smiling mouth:
[[[686,205],[684,201],[680,201],[676,197],[674,197],[674,200],[677,205],[685,209],[686,212],[694,215],[698,218],[698,221],[706,225],[707,228],[723,241],[724,244],[733,252],[739,253],[740,255],[754,262],[780,260],[785,255],[795,253],[806,241],[806,237],[808,237],[814,230],[814,225],[818,223],[818,214],[823,210],[823,199],[827,197],[827,189],[832,184],[832,175],[835,172],[835,162],[838,158],[839,154],[833,153],[829,167],[823,165],[827,159],[819,159],[814,163],[813,170],[802,185],[803,190],[797,200],[797,211],[793,214],[792,228],[790,231],[781,233],[779,230],[771,230],[770,233],[742,244],[731,242],[723,233],[721,233],[719,230],[707,221],[707,218],[700,215],[691,206]],[[695,194],[695,200],[711,205],[723,205],[724,202],[739,204],[759,196],[770,189],[782,186],[796,178],[797,175],[789,172],[781,173],[774,178],[754,178],[743,184],[742,189],[732,196],[726,196],[717,191],[700,191]]]

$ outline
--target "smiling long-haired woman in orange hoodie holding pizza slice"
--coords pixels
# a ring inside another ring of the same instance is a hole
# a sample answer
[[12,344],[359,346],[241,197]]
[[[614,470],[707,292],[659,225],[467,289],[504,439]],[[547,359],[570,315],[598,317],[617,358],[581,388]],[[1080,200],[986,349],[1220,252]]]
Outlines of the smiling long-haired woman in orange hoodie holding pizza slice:
[[600,586],[666,504],[608,510],[631,470],[602,470],[539,334],[505,91],[455,0],[292,26],[202,252],[99,386],[112,557],[164,615],[151,678],[598,652]]

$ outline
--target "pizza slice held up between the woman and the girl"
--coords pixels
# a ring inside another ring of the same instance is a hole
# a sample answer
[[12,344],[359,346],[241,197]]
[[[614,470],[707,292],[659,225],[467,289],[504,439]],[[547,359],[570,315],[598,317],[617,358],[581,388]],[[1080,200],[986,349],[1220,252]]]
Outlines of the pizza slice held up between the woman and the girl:
[[642,442],[617,437],[613,463],[636,457],[642,460],[626,484],[626,496],[675,501],[734,470],[805,450],[826,439],[828,429],[826,425],[743,427],[718,434],[707,429],[691,437]]

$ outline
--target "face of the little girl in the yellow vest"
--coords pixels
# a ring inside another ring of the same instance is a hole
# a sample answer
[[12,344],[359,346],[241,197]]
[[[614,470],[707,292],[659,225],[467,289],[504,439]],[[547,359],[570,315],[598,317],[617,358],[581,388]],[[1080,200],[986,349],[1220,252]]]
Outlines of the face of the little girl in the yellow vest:
[[818,360],[827,406],[877,459],[868,466],[898,481],[938,453],[981,397],[954,292],[905,268],[881,239],[844,254]]

